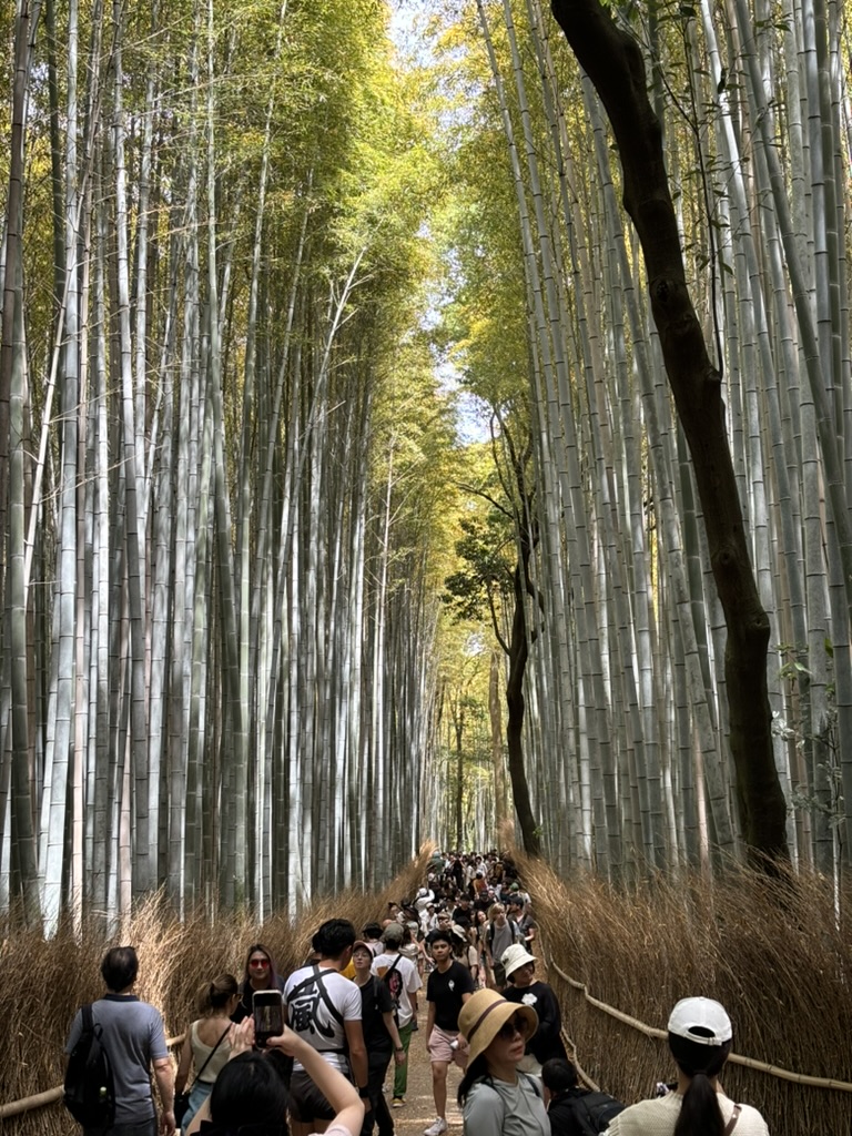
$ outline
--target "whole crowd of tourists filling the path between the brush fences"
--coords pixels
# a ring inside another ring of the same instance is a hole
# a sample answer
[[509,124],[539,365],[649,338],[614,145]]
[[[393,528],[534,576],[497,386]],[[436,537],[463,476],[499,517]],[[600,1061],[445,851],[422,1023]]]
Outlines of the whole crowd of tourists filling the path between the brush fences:
[[72,1025],[66,1102],[84,1136],[393,1136],[425,1001],[435,1119],[424,1136],[449,1129],[451,1064],[465,1136],[766,1136],[760,1113],[721,1091],[733,1028],[707,997],[671,1011],[677,1080],[657,1097],[625,1106],[582,1085],[536,974],[537,935],[508,857],[436,853],[416,894],[375,922],[324,922],[291,975],[254,943],[241,979],[204,983],[176,1074],[160,1013],[134,994],[135,951],[114,947],[107,993]]

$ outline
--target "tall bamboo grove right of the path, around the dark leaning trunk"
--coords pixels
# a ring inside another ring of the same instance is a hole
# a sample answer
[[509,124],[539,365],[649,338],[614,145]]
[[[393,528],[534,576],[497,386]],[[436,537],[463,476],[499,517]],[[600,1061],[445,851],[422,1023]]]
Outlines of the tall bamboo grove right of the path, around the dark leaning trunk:
[[[767,705],[746,707],[746,726],[763,713],[771,725],[790,855],[830,875],[849,860],[852,801],[843,10],[576,0],[553,11],[571,45],[598,20],[638,48],[635,65],[599,43],[590,69],[605,86],[635,66],[659,119],[768,617]],[[650,210],[643,192],[658,186],[641,170],[625,184],[613,108],[538,0],[478,0],[434,32],[470,103],[458,358],[513,421],[501,437],[513,429],[515,445],[494,459],[515,518],[510,565],[534,534],[515,598],[503,577],[504,603],[526,607],[526,846],[541,842],[561,871],[611,878],[724,863],[744,853],[732,628],[623,208],[629,190]],[[746,745],[746,768],[752,755]]]

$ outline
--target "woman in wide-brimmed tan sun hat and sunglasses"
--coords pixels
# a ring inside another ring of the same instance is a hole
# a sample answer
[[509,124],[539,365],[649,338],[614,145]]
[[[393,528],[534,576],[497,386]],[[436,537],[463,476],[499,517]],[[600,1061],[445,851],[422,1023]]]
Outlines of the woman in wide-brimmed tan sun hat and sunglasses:
[[535,1010],[496,991],[477,991],[462,1006],[459,1030],[469,1047],[459,1085],[465,1136],[550,1136],[540,1083],[518,1070],[537,1026]]

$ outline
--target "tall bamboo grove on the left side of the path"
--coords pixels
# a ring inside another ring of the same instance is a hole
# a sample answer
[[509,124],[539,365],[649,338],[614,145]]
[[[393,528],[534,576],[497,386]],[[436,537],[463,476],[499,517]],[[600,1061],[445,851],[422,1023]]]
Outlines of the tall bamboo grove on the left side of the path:
[[3,900],[368,885],[423,838],[453,437],[387,11],[8,19]]

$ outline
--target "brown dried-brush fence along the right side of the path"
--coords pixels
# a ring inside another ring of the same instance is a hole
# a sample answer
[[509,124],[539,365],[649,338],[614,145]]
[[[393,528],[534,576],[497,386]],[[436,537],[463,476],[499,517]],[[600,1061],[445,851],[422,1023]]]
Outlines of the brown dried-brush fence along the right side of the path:
[[[634,891],[566,884],[518,857],[535,899],[546,955],[587,993],[666,1028],[684,996],[716,997],[734,1021],[737,1054],[792,1072],[852,1079],[852,942],[829,885],[816,876],[768,879],[732,866],[716,883],[662,878]],[[842,897],[852,910],[852,887]],[[600,1009],[550,969],[586,1074],[621,1100],[674,1077],[665,1041]],[[760,1109],[772,1136],[852,1130],[852,1094],[791,1084],[728,1064],[725,1088]]]

